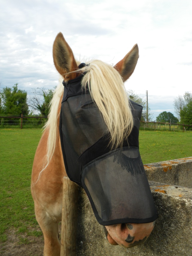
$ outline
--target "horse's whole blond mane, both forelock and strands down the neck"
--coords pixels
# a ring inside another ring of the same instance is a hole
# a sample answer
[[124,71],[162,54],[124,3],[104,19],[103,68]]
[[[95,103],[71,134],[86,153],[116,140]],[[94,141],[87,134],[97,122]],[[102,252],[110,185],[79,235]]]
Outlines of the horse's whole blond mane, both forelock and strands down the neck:
[[[102,113],[111,135],[110,143],[112,147],[122,146],[123,140],[129,136],[133,128],[133,117],[119,72],[112,65],[99,60],[91,61],[88,66],[76,72],[86,72],[82,79],[82,87],[85,88],[88,85],[91,97]],[[49,129],[49,137],[47,141],[47,161],[43,170],[48,166],[53,156],[56,139],[59,136],[57,121],[59,118],[58,106],[64,91],[62,81],[63,78],[61,77],[51,101],[48,121],[44,126],[44,130]]]

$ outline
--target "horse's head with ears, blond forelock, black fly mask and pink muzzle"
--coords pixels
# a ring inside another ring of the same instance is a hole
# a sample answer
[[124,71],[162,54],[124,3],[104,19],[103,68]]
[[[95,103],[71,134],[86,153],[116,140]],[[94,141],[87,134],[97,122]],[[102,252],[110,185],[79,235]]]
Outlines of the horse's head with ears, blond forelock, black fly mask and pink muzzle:
[[78,66],[61,33],[53,44],[64,78],[60,136],[67,175],[85,189],[108,241],[126,248],[145,242],[157,218],[138,149],[142,107],[128,101],[123,85],[138,58],[135,44],[114,67]]

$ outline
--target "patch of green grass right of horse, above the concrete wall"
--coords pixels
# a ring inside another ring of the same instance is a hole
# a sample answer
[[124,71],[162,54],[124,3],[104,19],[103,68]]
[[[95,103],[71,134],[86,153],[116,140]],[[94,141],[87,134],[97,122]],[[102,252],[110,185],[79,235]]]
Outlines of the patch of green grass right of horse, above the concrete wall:
[[140,130],[139,141],[143,164],[192,156],[192,131]]

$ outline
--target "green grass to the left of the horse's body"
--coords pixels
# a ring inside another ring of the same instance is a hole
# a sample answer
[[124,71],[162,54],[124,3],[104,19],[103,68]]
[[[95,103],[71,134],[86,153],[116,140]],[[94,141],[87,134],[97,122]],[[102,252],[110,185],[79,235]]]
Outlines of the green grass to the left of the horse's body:
[[[31,170],[40,129],[0,129],[0,237],[5,230],[31,232],[38,227],[30,192]],[[39,228],[38,228],[39,229]],[[34,233],[35,235],[35,233]]]

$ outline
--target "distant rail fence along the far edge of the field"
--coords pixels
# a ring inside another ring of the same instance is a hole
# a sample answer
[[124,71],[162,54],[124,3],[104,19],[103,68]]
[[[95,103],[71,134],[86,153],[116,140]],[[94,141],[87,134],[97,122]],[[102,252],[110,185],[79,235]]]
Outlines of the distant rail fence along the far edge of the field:
[[[25,126],[26,128],[35,127],[35,126],[42,127],[46,121],[47,121],[47,116],[5,115],[5,116],[0,116],[0,127],[6,127],[6,126],[12,126],[12,125],[20,127],[21,129],[23,128],[23,126]],[[187,129],[192,130],[192,125],[141,121],[140,128],[143,130],[186,131]]]

